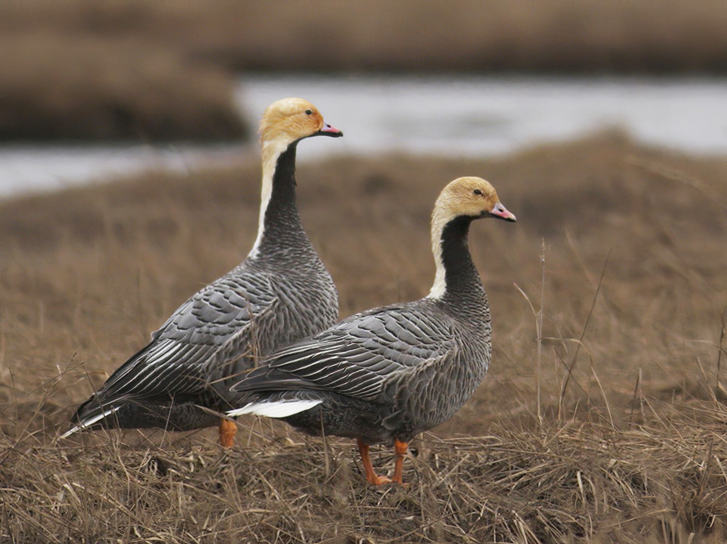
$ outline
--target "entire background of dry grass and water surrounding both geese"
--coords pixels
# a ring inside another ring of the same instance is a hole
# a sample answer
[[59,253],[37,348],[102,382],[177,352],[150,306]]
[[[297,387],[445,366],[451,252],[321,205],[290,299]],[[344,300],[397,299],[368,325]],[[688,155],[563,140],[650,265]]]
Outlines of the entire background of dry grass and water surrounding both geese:
[[[57,440],[244,259],[288,96],[342,316],[425,296],[451,179],[518,216],[480,389],[391,492],[252,418]],[[0,0],[0,540],[726,542],[726,180],[724,0]]]

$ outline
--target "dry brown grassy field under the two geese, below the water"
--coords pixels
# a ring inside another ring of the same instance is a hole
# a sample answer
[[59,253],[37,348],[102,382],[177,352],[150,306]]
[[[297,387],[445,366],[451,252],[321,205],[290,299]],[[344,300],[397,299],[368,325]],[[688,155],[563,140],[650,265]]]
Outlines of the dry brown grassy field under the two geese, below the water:
[[470,237],[494,358],[414,441],[404,488],[369,487],[348,441],[262,420],[241,419],[231,452],[214,429],[57,441],[150,330],[244,258],[257,164],[0,203],[0,540],[723,542],[727,162],[601,134],[491,161],[306,164],[302,217],[342,315],[427,292],[428,216],[465,174],[518,216]]

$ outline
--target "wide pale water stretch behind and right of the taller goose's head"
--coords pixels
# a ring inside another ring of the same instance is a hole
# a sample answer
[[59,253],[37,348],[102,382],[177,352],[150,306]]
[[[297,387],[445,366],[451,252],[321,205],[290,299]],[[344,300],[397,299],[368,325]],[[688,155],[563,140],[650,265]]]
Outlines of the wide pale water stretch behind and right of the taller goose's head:
[[727,79],[288,76],[241,89],[253,111],[283,96],[307,98],[345,132],[340,145],[311,142],[307,153],[496,155],[617,127],[651,144],[727,154]]

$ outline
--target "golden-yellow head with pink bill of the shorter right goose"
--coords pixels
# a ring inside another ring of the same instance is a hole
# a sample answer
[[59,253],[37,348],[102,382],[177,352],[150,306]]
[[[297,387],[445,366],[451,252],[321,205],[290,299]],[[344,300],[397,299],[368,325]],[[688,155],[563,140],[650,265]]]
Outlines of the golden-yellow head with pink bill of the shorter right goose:
[[434,206],[433,219],[446,223],[459,216],[475,219],[497,217],[515,221],[515,216],[500,203],[495,188],[480,177],[457,178],[440,193]]

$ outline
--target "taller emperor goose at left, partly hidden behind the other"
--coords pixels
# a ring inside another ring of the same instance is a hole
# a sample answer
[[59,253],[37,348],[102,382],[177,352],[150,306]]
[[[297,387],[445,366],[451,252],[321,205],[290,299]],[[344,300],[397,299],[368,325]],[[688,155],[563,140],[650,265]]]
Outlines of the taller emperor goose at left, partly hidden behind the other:
[[99,427],[185,431],[219,423],[220,444],[233,444],[235,423],[214,411],[234,407],[228,396],[238,374],[256,357],[337,320],[338,293],[300,224],[294,171],[300,140],[342,135],[300,98],[265,110],[262,201],[252,251],[182,304],[148,346],[79,407],[75,426],[63,437]]

